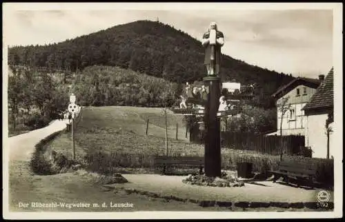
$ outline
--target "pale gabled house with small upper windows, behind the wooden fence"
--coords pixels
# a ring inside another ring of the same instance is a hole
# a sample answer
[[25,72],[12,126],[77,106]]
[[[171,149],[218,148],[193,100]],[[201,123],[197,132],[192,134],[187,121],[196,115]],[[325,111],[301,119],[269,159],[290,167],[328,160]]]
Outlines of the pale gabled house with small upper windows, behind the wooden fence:
[[[322,78],[322,77],[320,77]],[[282,135],[301,135],[305,134],[307,118],[302,108],[310,101],[319,86],[320,79],[309,79],[297,77],[290,83],[282,86],[272,96],[276,99],[276,105],[283,98],[288,98],[287,103],[290,109],[285,112],[282,118],[282,112],[277,108],[277,131],[266,135],[280,135],[280,125],[282,123]]]

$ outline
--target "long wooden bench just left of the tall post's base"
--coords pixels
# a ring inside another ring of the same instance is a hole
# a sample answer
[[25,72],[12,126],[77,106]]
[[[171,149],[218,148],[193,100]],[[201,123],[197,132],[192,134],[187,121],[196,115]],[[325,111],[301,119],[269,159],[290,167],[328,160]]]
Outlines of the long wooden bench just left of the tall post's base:
[[166,173],[166,167],[172,165],[185,165],[190,167],[199,167],[199,174],[204,168],[204,157],[155,157],[153,165],[155,168],[162,167],[162,173]]

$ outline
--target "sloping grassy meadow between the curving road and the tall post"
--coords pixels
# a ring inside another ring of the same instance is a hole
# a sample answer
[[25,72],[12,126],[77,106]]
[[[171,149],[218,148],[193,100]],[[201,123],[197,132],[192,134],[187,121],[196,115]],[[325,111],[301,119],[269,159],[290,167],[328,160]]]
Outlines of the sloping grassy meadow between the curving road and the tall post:
[[[167,112],[168,153],[190,151],[183,117]],[[178,141],[176,123],[179,126]],[[162,108],[87,107],[75,132],[76,142],[89,151],[165,154],[165,114]]]

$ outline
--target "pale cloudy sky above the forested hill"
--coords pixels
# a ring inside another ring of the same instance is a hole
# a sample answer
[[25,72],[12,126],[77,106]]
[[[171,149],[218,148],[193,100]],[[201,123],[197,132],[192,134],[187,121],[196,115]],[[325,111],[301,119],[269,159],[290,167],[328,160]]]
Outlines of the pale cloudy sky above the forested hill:
[[[79,5],[80,6],[80,5]],[[98,5],[97,5],[98,6]],[[84,7],[7,10],[4,36],[10,46],[73,39],[137,20],[169,24],[201,40],[211,21],[224,33],[222,53],[268,70],[317,78],[333,66],[333,11],[251,7]],[[5,11],[6,12],[6,11]],[[202,62],[202,61],[201,61]]]

